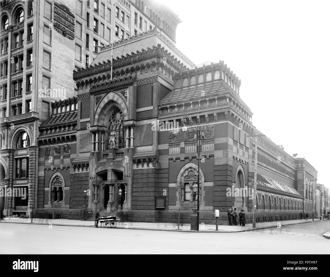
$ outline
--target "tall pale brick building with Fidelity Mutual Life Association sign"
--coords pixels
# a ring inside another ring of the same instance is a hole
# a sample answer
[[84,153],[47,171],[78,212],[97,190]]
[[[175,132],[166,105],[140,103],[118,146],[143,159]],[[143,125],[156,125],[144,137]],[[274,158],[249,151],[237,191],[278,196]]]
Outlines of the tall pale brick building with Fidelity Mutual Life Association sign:
[[[42,171],[38,172],[38,165],[45,165],[38,157],[39,127],[54,108],[59,112],[51,104],[54,101],[63,101],[60,112],[70,116],[77,113],[72,71],[91,64],[110,42],[155,27],[175,43],[175,30],[181,21],[153,1],[13,0],[1,1],[0,5],[0,171],[4,175],[0,186],[28,190],[24,201],[8,196],[0,208],[5,215],[29,214],[37,208],[37,183],[45,178]],[[75,128],[67,124],[48,132],[67,131],[69,136],[60,140],[63,145],[76,139]],[[52,138],[43,143],[53,143]],[[49,163],[56,165],[57,155],[58,151],[52,152]]]

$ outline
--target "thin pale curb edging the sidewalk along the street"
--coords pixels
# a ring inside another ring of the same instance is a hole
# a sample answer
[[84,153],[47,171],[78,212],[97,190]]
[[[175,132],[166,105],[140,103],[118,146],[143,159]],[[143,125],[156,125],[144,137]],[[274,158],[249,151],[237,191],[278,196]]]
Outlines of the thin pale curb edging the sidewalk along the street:
[[[322,220],[320,220],[322,221]],[[296,223],[289,223],[289,224],[282,224],[281,226],[289,226],[289,225],[295,225],[295,224],[301,224],[301,223],[310,223],[313,221],[303,221],[303,222],[296,222]],[[318,221],[314,221],[314,222],[318,222]],[[15,224],[35,224],[35,225],[49,225],[49,223],[37,223],[37,222],[6,222],[6,221],[0,221],[0,223],[15,223]],[[73,226],[73,227],[94,227],[94,225],[70,225],[70,224],[56,224],[56,223],[52,223],[52,225],[54,226]],[[221,226],[221,225],[220,225]],[[274,228],[277,227],[277,225],[273,225],[273,226],[265,226],[265,227],[257,227],[257,228],[250,228],[250,229],[246,229],[246,230],[239,230],[239,231],[216,231],[216,230],[212,230],[212,231],[192,231],[192,230],[178,230],[178,229],[153,229],[153,228],[142,228],[142,227],[124,227],[124,226],[116,226],[120,229],[135,229],[135,230],[151,230],[151,231],[174,231],[174,232],[189,232],[189,233],[239,233],[239,232],[248,232],[248,231],[254,231],[254,230],[262,230],[262,229],[267,229],[267,228]],[[324,237],[329,238],[330,239],[330,232],[323,234]]]

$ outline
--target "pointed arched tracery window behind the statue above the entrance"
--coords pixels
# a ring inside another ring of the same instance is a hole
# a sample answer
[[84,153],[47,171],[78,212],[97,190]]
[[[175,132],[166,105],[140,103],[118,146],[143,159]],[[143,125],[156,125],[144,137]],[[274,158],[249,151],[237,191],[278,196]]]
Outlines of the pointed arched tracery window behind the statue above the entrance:
[[124,130],[124,115],[115,107],[111,113],[108,125],[108,149],[126,147],[126,130]]

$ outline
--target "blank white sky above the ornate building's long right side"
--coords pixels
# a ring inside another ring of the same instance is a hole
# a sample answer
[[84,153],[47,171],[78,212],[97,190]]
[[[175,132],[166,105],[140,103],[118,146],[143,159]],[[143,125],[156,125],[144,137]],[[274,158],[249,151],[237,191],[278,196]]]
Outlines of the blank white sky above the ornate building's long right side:
[[330,1],[165,3],[182,20],[177,47],[195,64],[223,60],[241,79],[253,125],[330,187]]

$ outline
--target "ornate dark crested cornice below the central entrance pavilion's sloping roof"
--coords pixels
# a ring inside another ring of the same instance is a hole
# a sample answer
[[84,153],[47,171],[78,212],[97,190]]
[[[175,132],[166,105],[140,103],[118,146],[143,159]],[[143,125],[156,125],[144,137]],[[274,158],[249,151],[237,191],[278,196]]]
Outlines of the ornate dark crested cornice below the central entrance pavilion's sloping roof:
[[[172,66],[177,71],[184,71],[186,70],[186,66],[183,63],[178,61],[170,52],[168,52],[164,47],[160,44],[157,46],[152,46],[151,48],[147,48],[147,50],[142,49],[141,51],[136,51],[135,53],[131,53],[131,55],[126,54],[126,56],[121,55],[121,57],[117,57],[113,59],[113,76],[116,74],[115,69],[119,67],[133,68],[132,66],[134,63],[138,61],[143,61],[147,59],[152,59],[155,57],[166,58],[166,63],[169,66]],[[111,57],[110,57],[111,58]],[[147,62],[148,63],[148,62]],[[163,62],[161,62],[163,64]],[[131,65],[131,66],[129,66]],[[141,67],[144,64],[141,64]],[[139,66],[138,66],[139,67]],[[100,74],[103,72],[107,72],[111,70],[111,61],[108,59],[107,61],[99,62],[98,64],[90,65],[87,68],[78,69],[78,71],[73,71],[73,79],[76,81],[78,79],[84,79],[89,76],[93,76],[95,74]],[[110,75],[110,73],[108,73]],[[95,77],[94,77],[95,78]]]

